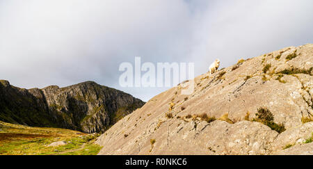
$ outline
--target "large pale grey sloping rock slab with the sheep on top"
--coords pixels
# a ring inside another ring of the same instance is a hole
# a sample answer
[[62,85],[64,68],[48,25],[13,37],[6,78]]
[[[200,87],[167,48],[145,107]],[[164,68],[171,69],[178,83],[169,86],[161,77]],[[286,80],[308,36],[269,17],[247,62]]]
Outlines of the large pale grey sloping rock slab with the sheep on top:
[[310,44],[202,74],[114,124],[99,154],[313,154],[312,61]]

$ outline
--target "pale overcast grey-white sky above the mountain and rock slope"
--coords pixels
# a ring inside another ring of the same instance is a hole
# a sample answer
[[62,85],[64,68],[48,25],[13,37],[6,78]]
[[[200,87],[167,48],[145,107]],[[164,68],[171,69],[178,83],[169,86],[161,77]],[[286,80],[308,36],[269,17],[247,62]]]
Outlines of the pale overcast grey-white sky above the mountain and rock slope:
[[0,0],[0,79],[21,88],[95,81],[149,100],[166,88],[122,88],[122,62],[228,67],[313,42],[312,0]]

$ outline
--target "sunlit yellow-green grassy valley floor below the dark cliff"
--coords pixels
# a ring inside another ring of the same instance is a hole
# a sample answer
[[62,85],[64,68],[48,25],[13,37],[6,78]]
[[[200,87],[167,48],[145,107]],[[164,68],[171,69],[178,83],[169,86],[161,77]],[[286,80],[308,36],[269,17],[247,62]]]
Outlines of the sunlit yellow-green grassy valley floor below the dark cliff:
[[[70,129],[26,127],[0,121],[0,155],[95,155],[97,134]],[[48,146],[64,141],[65,145]]]

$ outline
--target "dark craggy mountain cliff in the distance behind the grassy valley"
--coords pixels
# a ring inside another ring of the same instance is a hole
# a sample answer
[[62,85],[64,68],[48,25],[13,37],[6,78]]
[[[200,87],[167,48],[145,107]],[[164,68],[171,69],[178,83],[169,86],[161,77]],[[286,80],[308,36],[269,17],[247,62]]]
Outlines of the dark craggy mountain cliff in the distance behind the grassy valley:
[[0,81],[0,120],[4,122],[101,132],[143,104],[125,92],[93,81],[29,90]]

